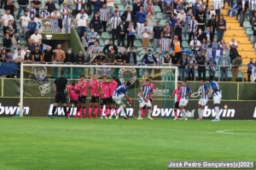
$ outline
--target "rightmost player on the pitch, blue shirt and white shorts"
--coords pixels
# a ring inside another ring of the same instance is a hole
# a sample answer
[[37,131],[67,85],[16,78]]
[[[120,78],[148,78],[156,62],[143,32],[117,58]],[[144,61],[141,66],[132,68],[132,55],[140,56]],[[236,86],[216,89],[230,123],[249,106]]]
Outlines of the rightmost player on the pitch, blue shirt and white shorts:
[[213,96],[213,105],[214,105],[215,112],[216,112],[215,119],[213,119],[212,121],[213,122],[218,122],[218,121],[220,121],[219,120],[219,107],[218,106],[220,104],[222,94],[221,94],[221,91],[219,89],[218,82],[215,82],[213,79],[214,78],[212,76],[209,77],[210,87],[212,88],[212,95],[211,95],[210,99],[212,99],[212,96]]

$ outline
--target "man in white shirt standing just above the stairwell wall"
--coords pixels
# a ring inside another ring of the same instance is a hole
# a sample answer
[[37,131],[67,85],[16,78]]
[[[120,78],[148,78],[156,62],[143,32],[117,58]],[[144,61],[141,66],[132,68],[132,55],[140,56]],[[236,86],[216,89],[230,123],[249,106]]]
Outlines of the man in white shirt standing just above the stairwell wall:
[[84,8],[82,8],[80,13],[77,14],[75,26],[78,27],[79,37],[82,38],[84,36],[84,31],[87,31],[87,28],[89,26],[88,15],[85,14]]

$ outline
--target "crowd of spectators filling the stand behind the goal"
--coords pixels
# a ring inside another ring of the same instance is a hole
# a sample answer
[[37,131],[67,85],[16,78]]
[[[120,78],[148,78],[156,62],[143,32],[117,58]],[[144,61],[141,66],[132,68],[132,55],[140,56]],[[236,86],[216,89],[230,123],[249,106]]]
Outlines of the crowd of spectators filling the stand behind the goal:
[[[207,71],[215,76],[219,69],[222,81],[228,81],[228,70],[232,71],[231,81],[236,81],[242,63],[235,39],[224,42],[223,1],[212,1],[208,8],[201,0],[125,0],[124,12],[114,5],[114,0],[64,0],[58,2],[60,10],[52,0],[44,7],[39,0],[18,0],[18,7],[11,0],[1,2],[5,14],[2,16],[4,37],[0,62],[177,65],[180,79],[194,80],[195,68],[199,78],[206,78]],[[234,6],[234,2],[229,3]],[[256,0],[237,2],[241,26],[249,10],[254,37],[255,4]],[[158,8],[160,11],[156,11]],[[43,48],[35,18],[51,20],[57,29],[62,28],[62,20],[71,19],[70,27],[77,29],[86,54],[82,51],[73,54],[71,48],[64,53],[61,45],[55,50]],[[104,44],[99,44],[108,32],[111,36],[104,39]],[[142,42],[141,48],[137,47],[137,42]],[[26,43],[25,47],[21,48],[20,43]],[[183,47],[185,44],[187,48]]]

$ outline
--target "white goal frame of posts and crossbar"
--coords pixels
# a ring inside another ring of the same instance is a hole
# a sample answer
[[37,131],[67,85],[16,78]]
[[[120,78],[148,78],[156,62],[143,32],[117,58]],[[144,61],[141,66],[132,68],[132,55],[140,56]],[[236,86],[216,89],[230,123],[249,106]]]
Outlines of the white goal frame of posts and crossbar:
[[[61,65],[61,64],[20,64],[20,116],[23,116],[23,94],[24,94],[24,66],[47,66],[47,67],[73,67],[73,68],[134,68],[134,69],[172,69],[175,70],[175,82],[177,82],[177,66],[159,66],[159,65]],[[177,83],[175,83],[175,89],[177,88]],[[177,97],[175,97],[176,100]]]

